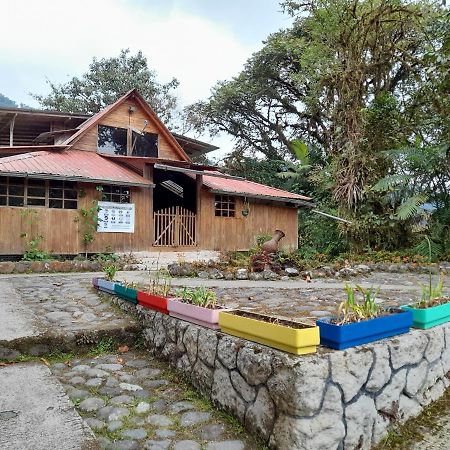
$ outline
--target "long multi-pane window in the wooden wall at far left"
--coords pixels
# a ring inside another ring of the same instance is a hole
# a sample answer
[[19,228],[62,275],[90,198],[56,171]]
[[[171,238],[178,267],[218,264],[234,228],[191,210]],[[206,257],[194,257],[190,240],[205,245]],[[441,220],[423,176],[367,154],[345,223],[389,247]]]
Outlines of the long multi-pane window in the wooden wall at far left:
[[0,177],[0,206],[77,209],[77,185],[72,181]]

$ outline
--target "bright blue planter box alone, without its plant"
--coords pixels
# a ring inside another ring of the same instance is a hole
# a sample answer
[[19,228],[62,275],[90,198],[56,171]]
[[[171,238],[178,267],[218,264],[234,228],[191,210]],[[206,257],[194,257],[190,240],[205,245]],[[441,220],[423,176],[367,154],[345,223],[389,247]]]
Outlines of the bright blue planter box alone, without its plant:
[[[399,311],[399,310],[396,310]],[[397,334],[408,333],[412,325],[412,313],[395,312],[376,319],[335,325],[332,317],[317,320],[320,329],[320,344],[335,350],[378,341]]]

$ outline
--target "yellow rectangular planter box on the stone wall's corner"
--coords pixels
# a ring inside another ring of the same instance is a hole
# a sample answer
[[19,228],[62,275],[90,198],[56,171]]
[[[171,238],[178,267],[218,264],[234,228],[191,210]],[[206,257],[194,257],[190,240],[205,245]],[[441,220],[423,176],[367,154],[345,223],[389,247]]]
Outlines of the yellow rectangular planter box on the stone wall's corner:
[[[247,311],[221,311],[219,312],[219,325],[224,333],[294,355],[305,355],[317,350],[320,342],[318,326],[283,319],[276,320],[278,323],[271,323],[264,321],[264,317],[270,320],[277,319]],[[293,324],[294,327],[289,324]],[[298,328],[299,326],[300,328]]]

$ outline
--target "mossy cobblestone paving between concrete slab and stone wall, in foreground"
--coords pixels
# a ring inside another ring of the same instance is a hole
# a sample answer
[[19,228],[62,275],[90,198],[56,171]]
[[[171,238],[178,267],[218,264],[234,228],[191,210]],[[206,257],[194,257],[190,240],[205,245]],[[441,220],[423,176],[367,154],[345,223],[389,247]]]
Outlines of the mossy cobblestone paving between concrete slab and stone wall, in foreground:
[[102,448],[261,448],[199,401],[164,363],[130,351],[56,363],[52,372]]

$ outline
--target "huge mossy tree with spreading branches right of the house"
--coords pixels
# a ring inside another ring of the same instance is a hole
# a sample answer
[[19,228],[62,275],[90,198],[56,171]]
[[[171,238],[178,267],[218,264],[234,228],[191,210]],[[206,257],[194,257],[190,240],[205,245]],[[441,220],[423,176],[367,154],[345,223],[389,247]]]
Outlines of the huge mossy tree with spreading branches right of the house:
[[380,150],[411,134],[410,94],[429,67],[423,56],[438,10],[405,0],[283,6],[294,25],[269,36],[237,77],[196,105],[197,123],[271,160],[289,157],[295,139],[322,149],[335,200],[356,211],[389,168]]

